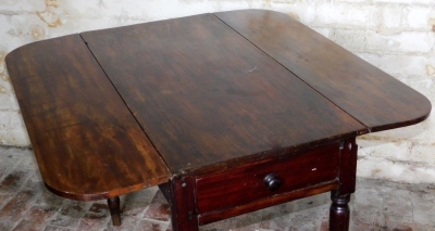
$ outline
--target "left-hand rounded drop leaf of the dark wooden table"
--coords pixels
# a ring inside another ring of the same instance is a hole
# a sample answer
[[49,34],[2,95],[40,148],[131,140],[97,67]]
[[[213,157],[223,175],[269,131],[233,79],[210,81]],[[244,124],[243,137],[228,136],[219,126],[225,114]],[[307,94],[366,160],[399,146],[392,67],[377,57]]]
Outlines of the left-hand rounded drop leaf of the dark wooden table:
[[165,164],[78,35],[22,47],[5,62],[51,191],[98,200],[167,181]]

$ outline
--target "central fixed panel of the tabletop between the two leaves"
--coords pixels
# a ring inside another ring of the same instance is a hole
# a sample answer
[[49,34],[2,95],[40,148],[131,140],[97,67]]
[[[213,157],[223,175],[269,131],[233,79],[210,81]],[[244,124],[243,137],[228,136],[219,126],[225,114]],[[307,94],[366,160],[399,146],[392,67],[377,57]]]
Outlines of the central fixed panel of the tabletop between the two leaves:
[[173,174],[365,130],[213,14],[82,37]]

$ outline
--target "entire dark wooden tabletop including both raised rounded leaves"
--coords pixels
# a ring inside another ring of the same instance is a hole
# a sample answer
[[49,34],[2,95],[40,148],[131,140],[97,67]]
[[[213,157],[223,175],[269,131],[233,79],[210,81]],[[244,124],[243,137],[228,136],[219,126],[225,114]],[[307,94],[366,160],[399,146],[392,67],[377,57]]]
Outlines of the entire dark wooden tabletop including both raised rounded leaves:
[[419,92],[262,10],[40,41],[7,65],[46,184],[77,200],[412,125],[431,112]]

